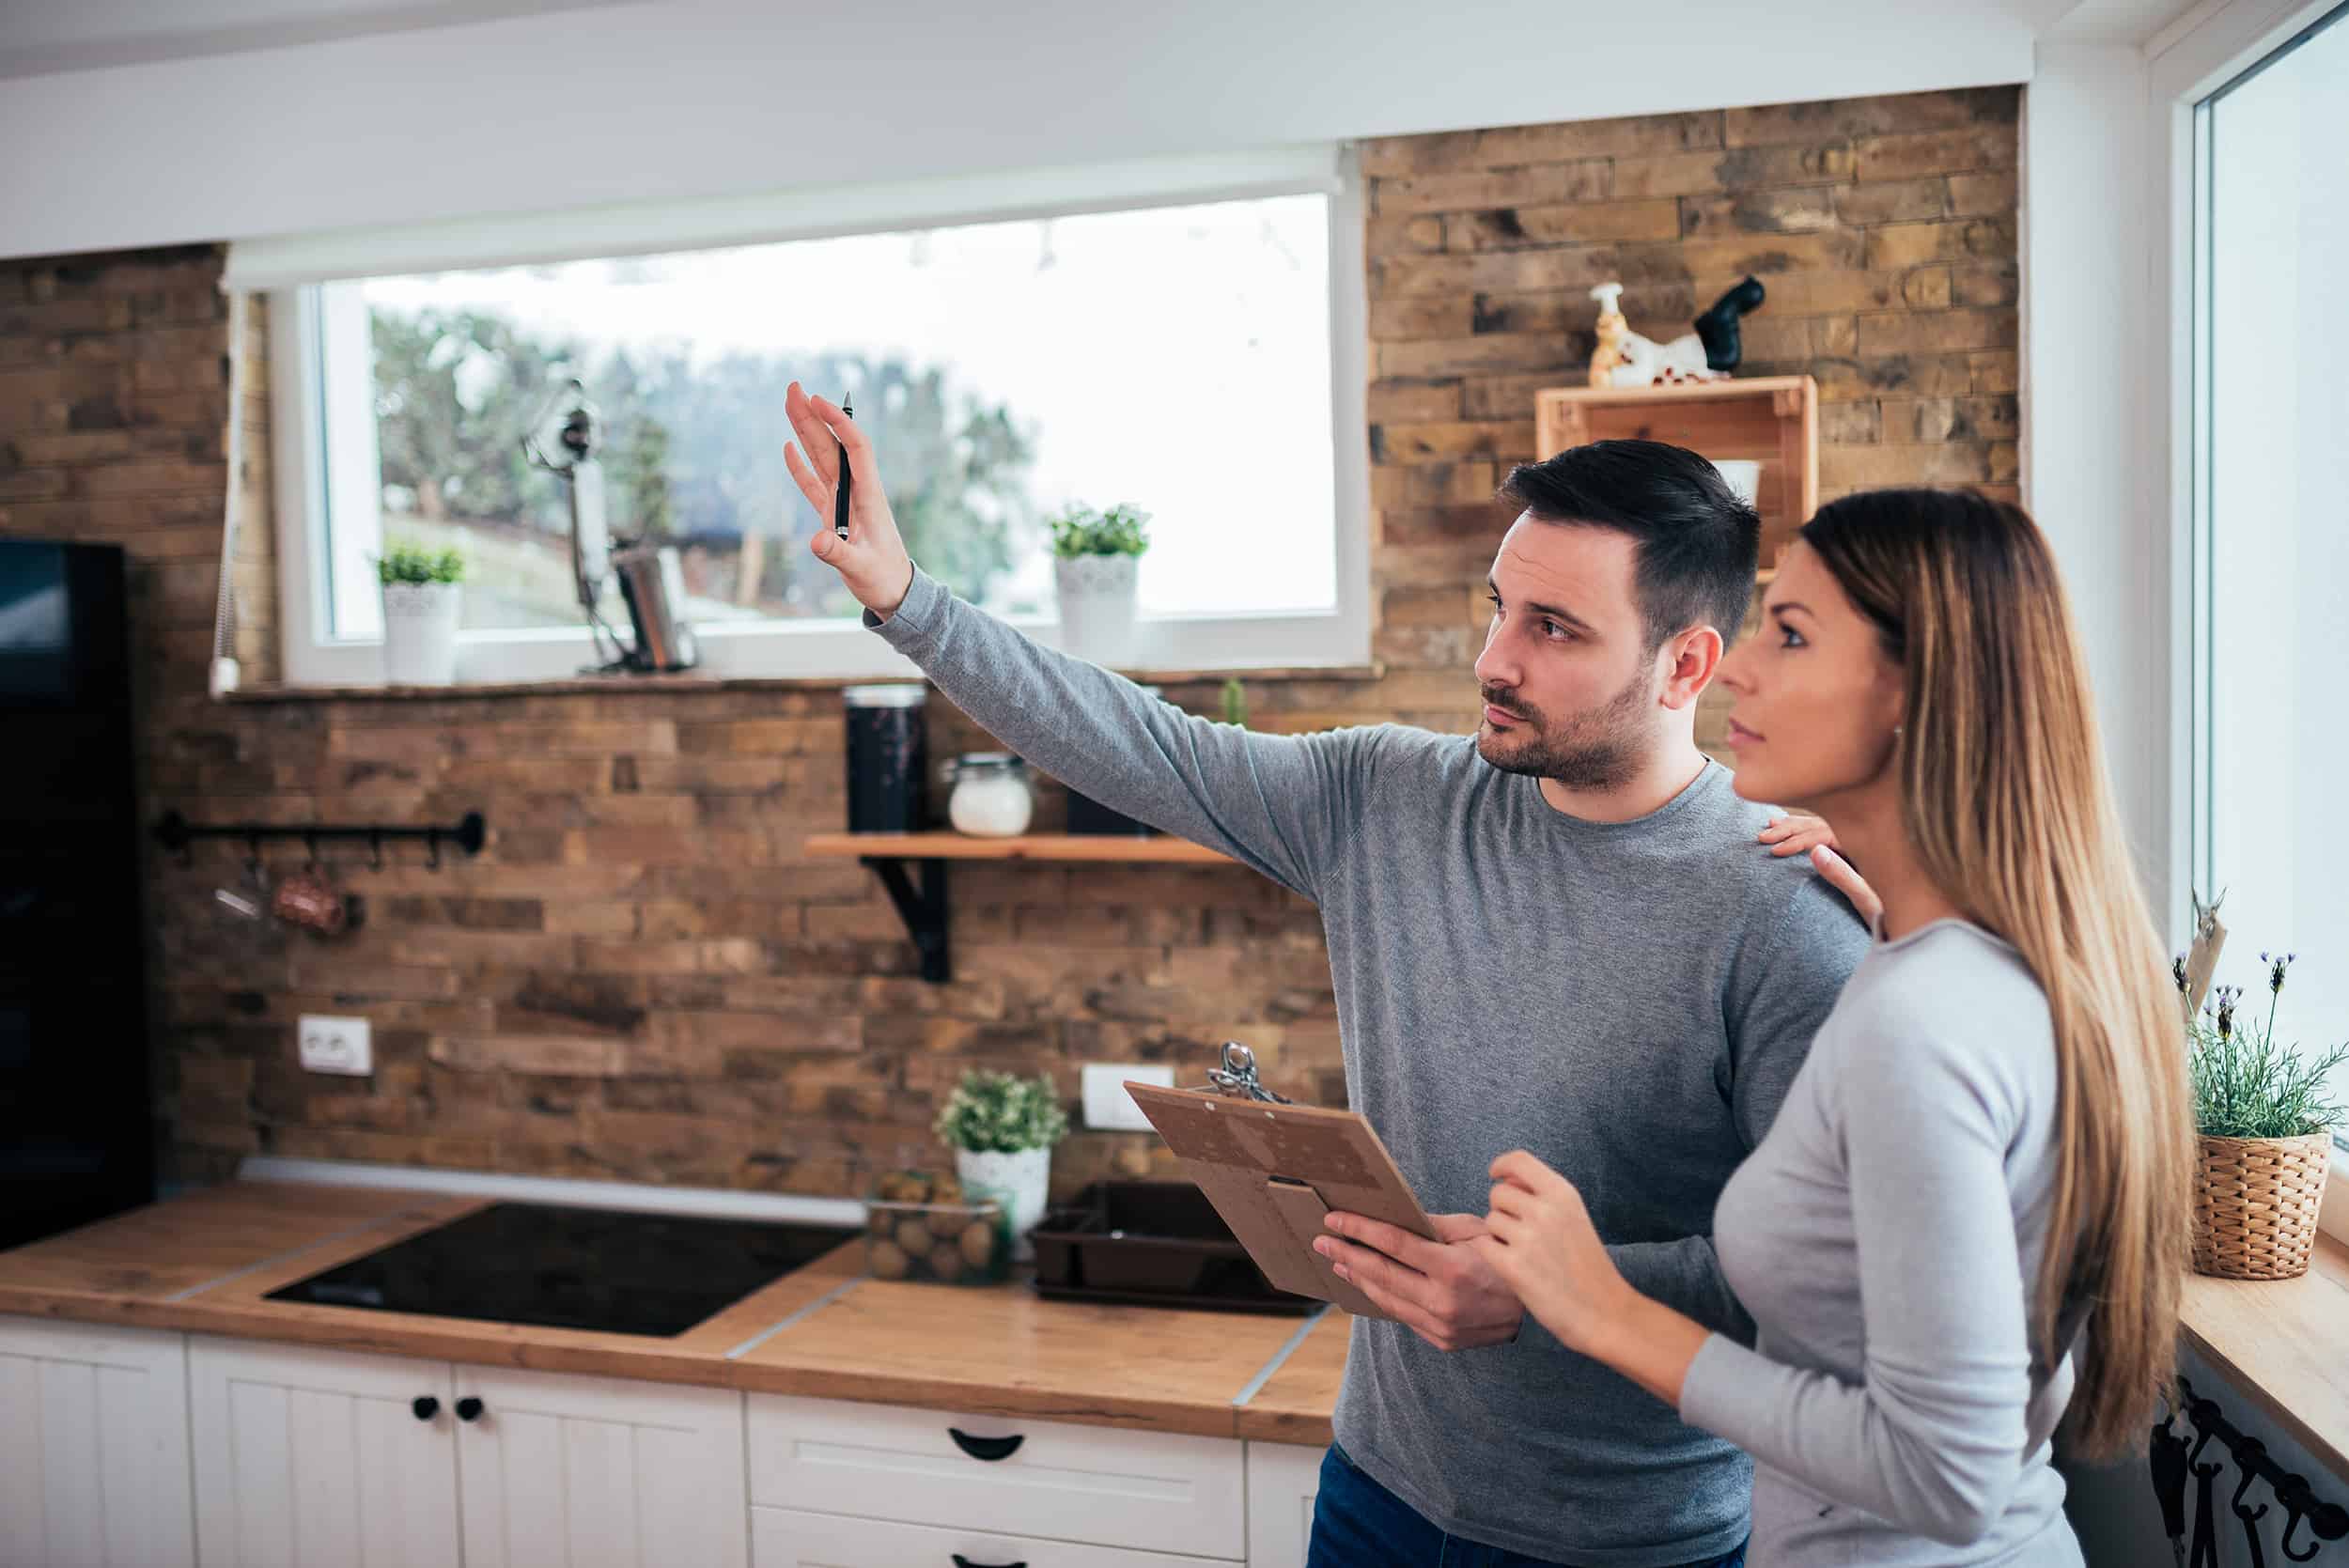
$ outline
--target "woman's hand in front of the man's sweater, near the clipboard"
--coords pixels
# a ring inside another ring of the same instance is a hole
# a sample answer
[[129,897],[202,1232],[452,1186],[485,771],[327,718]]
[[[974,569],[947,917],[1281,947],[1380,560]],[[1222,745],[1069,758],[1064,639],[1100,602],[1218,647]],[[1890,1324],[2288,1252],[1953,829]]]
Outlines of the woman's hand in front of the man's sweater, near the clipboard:
[[1567,1350],[1595,1354],[1640,1293],[1607,1256],[1583,1195],[1522,1148],[1494,1160],[1492,1178],[1485,1261]]

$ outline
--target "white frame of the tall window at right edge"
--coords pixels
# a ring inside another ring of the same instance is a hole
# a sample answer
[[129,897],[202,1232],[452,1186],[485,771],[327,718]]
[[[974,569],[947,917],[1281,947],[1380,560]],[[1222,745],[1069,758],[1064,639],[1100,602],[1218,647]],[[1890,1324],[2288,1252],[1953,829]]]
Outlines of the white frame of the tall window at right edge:
[[[2201,455],[2199,376],[2203,371],[2196,343],[2201,326],[2196,293],[2203,265],[2199,256],[2203,190],[2196,157],[2196,108],[2337,5],[2340,0],[2220,0],[2187,12],[2145,45],[2147,106],[2152,110],[2147,129],[2154,146],[2161,148],[2161,211],[2168,223],[2166,242],[2154,246],[2154,298],[2163,303],[2170,329],[2163,373],[2170,458],[2170,624],[2189,629],[2189,636],[2170,638],[2170,885],[2175,890],[2196,885],[2208,819],[2208,800],[2199,786],[2208,739],[2208,711],[2199,702],[2199,685],[2210,636],[2201,584],[2208,582],[2210,568],[2203,561],[2196,472]],[[2349,1138],[2342,1138],[2340,1131],[2333,1141],[2333,1178],[2326,1183],[2318,1225],[2337,1242],[2349,1242]]]

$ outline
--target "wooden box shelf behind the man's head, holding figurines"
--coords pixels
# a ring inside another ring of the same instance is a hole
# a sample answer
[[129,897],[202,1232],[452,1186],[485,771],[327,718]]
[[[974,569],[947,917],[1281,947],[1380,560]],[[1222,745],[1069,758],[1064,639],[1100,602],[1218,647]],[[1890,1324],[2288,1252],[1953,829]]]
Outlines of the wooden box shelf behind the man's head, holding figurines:
[[1698,380],[1677,387],[1546,387],[1534,394],[1543,455],[1586,441],[1670,441],[1712,460],[1762,465],[1762,566],[1773,568],[1818,512],[1818,383],[1809,376]]

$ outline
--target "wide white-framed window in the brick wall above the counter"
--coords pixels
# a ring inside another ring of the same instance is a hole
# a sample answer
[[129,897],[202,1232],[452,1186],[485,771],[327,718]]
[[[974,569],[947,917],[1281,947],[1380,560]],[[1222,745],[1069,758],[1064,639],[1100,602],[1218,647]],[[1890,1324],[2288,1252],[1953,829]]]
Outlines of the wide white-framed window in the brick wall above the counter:
[[[265,289],[294,683],[371,683],[388,545],[467,559],[460,678],[594,650],[521,437],[599,413],[615,538],[679,549],[702,664],[907,667],[808,554],[782,390],[853,401],[914,556],[1052,641],[1045,519],[1151,514],[1137,667],[1369,657],[1362,239],[1334,148],[240,244]],[[606,620],[622,627],[618,592]]]

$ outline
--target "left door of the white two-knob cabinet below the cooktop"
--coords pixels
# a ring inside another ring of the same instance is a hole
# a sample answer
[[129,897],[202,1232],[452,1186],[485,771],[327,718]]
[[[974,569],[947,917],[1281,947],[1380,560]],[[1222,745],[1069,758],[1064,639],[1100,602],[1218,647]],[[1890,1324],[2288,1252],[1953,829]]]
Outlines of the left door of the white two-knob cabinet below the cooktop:
[[204,1563],[458,1561],[446,1361],[197,1336],[188,1394]]

